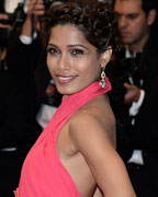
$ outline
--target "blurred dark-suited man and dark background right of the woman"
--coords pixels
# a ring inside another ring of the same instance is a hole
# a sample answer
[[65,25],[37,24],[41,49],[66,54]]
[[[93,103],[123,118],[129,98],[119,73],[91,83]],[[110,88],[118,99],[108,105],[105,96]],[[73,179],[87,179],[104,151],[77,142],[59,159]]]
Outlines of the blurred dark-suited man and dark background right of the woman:
[[121,48],[109,65],[117,151],[138,197],[158,196],[158,21],[155,0],[114,0]]

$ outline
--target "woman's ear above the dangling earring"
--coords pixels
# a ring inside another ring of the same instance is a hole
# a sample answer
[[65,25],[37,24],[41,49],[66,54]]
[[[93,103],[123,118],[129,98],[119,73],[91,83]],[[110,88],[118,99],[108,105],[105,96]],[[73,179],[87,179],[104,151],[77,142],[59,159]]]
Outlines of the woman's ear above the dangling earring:
[[109,46],[105,51],[100,55],[100,66],[104,68],[112,57],[112,47]]

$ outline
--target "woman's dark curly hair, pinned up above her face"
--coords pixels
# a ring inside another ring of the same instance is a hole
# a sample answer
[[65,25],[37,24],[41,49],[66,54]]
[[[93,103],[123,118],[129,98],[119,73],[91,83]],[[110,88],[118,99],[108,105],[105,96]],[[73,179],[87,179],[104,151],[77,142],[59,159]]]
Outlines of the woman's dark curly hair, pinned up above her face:
[[108,46],[115,50],[119,46],[117,18],[113,9],[102,2],[65,2],[50,8],[42,23],[44,43],[47,45],[52,27],[61,24],[75,25],[97,47],[98,53],[103,53]]

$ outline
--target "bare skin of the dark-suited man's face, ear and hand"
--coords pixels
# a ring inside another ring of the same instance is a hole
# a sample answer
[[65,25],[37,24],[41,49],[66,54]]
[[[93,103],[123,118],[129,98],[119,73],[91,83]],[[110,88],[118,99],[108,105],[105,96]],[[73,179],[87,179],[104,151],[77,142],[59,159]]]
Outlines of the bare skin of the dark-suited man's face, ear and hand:
[[[150,25],[155,21],[156,11],[148,14],[142,8],[142,0],[115,0],[115,12],[119,13],[119,30],[122,43],[135,53],[140,53],[149,37]],[[140,89],[134,84],[124,83],[127,93],[124,103],[137,102]]]

